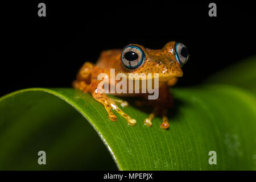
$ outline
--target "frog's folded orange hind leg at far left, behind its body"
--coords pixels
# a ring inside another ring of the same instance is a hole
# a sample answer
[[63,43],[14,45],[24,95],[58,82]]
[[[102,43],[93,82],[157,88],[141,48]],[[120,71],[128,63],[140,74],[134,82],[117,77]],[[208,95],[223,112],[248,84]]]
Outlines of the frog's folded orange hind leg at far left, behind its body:
[[94,64],[90,62],[84,63],[77,73],[76,80],[73,81],[73,87],[84,92],[90,92],[90,79],[93,68]]

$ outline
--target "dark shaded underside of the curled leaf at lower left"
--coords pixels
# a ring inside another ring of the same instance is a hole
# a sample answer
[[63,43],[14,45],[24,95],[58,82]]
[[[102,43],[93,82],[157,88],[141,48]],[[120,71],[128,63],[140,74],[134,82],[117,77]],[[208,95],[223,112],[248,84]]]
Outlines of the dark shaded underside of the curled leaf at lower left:
[[[73,91],[26,89],[0,98],[0,169],[117,169],[96,131],[59,98]],[[42,150],[47,165],[38,164]]]

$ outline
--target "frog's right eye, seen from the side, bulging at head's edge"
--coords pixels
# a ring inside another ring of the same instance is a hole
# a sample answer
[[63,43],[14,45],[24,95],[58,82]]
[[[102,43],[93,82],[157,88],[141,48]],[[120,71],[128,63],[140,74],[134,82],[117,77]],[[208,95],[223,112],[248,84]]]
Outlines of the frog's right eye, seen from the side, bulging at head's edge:
[[179,42],[175,44],[175,57],[181,67],[187,62],[189,55],[188,49],[184,46],[184,44]]

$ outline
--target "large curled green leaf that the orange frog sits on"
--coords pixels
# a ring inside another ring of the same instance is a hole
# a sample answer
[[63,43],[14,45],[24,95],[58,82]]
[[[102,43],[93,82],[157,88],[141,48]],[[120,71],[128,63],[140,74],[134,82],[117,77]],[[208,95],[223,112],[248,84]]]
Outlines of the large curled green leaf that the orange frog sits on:
[[[123,110],[137,126],[117,113],[118,122],[112,122],[104,107],[80,90],[8,94],[0,98],[0,169],[115,169],[92,127],[118,169],[256,169],[254,94],[225,85],[172,92],[176,105],[168,112],[169,130],[160,128],[160,118],[151,128],[143,125],[147,111],[131,105]],[[47,154],[45,166],[38,165],[40,150]],[[217,165],[208,163],[209,151],[216,151]]]

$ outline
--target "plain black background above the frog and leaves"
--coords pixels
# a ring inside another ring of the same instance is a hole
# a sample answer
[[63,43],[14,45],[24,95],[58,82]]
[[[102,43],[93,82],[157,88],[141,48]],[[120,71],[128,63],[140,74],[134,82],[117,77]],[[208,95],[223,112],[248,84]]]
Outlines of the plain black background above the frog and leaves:
[[[46,17],[38,3],[46,3]],[[255,54],[253,5],[184,1],[31,1],[2,4],[0,96],[22,88],[70,87],[85,61],[137,43],[159,49],[175,40],[191,57],[179,86],[195,85]]]

